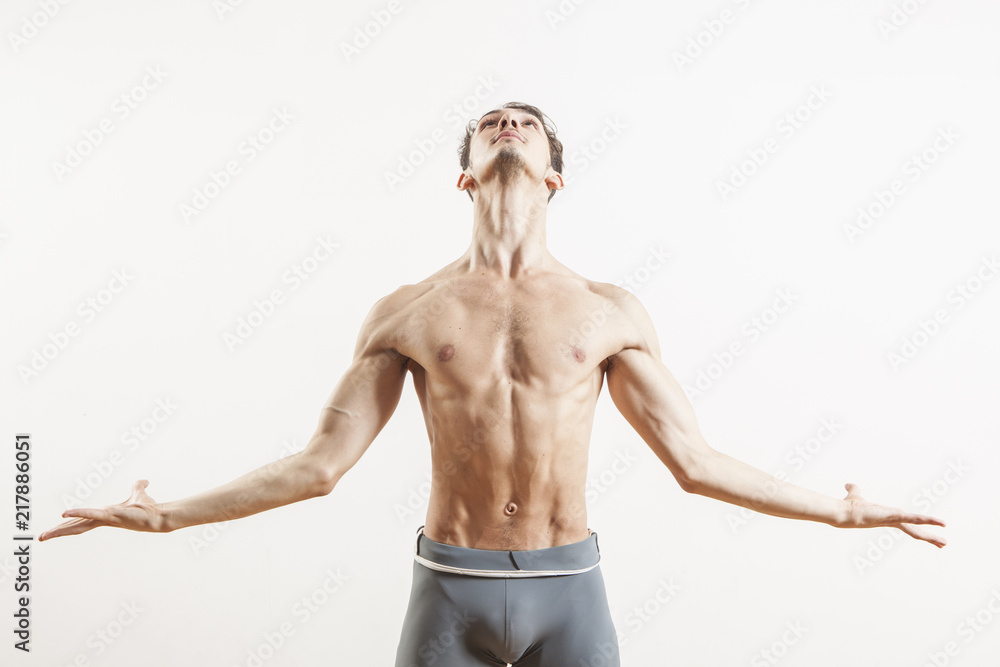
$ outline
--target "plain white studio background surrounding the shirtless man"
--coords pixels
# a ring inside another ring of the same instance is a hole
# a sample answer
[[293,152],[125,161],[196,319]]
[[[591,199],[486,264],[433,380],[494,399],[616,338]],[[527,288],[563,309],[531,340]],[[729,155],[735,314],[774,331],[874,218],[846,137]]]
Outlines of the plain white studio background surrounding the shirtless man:
[[[855,482],[948,521],[943,550],[889,529],[740,523],[738,508],[684,494],[602,396],[589,525],[623,664],[993,664],[995,3],[404,0],[391,14],[382,1],[133,0],[51,17],[43,4],[7,2],[0,21],[10,545],[18,432],[33,438],[36,535],[68,504],[121,501],[139,478],[173,500],[304,446],[370,306],[468,246],[460,121],[524,101],[565,144],[551,251],[589,278],[628,277],[675,376],[712,376],[692,402],[714,447],[830,496]],[[366,24],[374,37],[345,55]],[[275,109],[293,119],[248,160],[241,145]],[[88,146],[102,119],[112,131]],[[939,132],[952,138],[934,148]],[[769,138],[763,165],[741,167]],[[59,167],[73,151],[87,154]],[[925,151],[933,163],[914,171]],[[230,160],[240,173],[185,220],[182,205]],[[390,187],[401,162],[420,164]],[[719,184],[741,168],[753,173],[724,198]],[[898,196],[850,235],[893,180]],[[283,275],[318,237],[339,247],[293,289]],[[653,250],[669,259],[650,272]],[[116,271],[128,284],[102,292]],[[230,350],[224,335],[274,289],[284,302]],[[795,298],[773,318],[779,290]],[[92,319],[79,310],[102,297]],[[934,335],[918,333],[939,310]],[[770,324],[751,340],[754,317]],[[59,349],[70,324],[78,335]],[[919,346],[893,364],[904,340]],[[734,342],[743,352],[723,369]],[[25,374],[36,352],[50,358]],[[263,664],[391,665],[430,470],[407,384],[327,497],[219,528],[34,544],[30,656],[11,647],[13,546],[0,550],[0,663],[248,665],[288,623]],[[158,400],[177,406],[159,423]],[[825,442],[824,419],[839,425]],[[130,448],[133,427],[148,433]],[[327,596],[338,571],[347,579]],[[323,604],[305,618],[296,604],[310,596]]]

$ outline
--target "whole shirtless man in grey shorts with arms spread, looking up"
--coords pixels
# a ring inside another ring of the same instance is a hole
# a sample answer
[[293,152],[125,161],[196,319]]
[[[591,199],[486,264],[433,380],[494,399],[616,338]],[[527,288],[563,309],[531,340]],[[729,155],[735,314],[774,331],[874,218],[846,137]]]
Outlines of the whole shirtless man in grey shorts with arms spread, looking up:
[[843,499],[814,493],[705,442],[639,300],[546,247],[548,201],[564,185],[562,144],[546,120],[510,103],[470,123],[457,184],[473,202],[469,249],[375,303],[304,451],[172,502],[155,502],[139,480],[125,502],[67,510],[72,518],[39,540],[98,526],[169,532],[329,494],[410,373],[432,480],[397,667],[620,664],[584,500],[605,380],[689,493],[838,528],[894,526],[944,546],[925,527],[939,519],[867,502],[853,484]]

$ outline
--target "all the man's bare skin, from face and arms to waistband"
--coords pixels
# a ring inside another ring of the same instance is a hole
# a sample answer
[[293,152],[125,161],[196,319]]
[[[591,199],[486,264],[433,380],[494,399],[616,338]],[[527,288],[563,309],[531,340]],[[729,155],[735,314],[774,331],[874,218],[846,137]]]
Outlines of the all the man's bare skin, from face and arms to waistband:
[[841,528],[893,526],[945,545],[927,528],[940,519],[870,503],[853,484],[843,499],[815,493],[708,445],[638,299],[549,253],[547,200],[563,180],[539,119],[486,114],[470,159],[457,184],[473,193],[469,249],[372,307],[303,452],[167,503],[139,480],[123,503],[67,510],[69,520],[39,540],[99,526],[169,532],[329,494],[392,416],[409,373],[431,447],[424,533],[439,542],[523,550],[585,539],[590,434],[607,382],[687,492]]

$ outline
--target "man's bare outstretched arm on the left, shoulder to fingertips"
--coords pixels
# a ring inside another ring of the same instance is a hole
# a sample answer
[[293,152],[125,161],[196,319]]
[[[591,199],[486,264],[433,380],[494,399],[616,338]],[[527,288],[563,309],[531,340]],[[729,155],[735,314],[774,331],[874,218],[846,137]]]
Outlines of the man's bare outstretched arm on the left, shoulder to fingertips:
[[303,451],[172,502],[155,502],[145,491],[149,482],[139,480],[122,503],[66,510],[63,517],[70,520],[43,532],[39,541],[99,526],[170,532],[239,519],[330,493],[389,421],[402,393],[406,358],[384,343],[385,315],[391,307],[387,299],[369,312],[354,361],[321,410],[316,432]]

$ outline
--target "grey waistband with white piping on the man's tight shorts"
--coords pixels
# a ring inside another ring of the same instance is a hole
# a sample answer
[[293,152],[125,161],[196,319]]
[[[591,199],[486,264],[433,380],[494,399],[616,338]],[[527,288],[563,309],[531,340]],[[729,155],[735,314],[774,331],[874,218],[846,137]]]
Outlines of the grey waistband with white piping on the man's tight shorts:
[[573,544],[526,551],[494,551],[469,549],[435,542],[417,529],[413,545],[413,560],[438,572],[451,572],[474,577],[554,577],[581,574],[600,563],[601,551],[597,533]]

